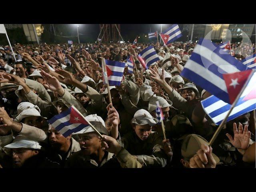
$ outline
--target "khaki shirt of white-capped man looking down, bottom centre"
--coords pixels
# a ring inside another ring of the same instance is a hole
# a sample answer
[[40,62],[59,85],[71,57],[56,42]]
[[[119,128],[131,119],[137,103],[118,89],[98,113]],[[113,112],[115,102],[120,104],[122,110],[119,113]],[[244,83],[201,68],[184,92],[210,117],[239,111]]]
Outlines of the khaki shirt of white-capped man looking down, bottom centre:
[[157,132],[152,132],[145,141],[140,140],[135,132],[128,133],[122,137],[122,146],[130,154],[138,156],[138,162],[144,167],[166,166],[167,156]]

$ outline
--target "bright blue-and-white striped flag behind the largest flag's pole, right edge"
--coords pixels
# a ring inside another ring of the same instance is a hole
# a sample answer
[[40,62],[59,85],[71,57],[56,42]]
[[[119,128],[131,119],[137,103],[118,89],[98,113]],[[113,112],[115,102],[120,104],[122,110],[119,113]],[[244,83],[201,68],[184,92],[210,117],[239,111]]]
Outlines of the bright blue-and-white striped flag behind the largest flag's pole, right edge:
[[[236,106],[228,116],[227,122],[256,109],[256,72],[254,72]],[[230,110],[231,105],[212,95],[201,101],[204,111],[219,125]]]

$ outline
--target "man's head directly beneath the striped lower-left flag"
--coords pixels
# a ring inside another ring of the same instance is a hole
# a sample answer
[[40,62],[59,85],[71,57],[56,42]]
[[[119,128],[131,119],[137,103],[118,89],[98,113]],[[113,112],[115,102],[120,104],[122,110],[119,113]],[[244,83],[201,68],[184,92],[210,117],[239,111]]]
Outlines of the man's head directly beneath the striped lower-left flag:
[[47,135],[48,135],[48,140],[49,140],[51,146],[55,150],[61,150],[66,145],[70,144],[71,134],[67,137],[64,137],[52,125],[49,125]]

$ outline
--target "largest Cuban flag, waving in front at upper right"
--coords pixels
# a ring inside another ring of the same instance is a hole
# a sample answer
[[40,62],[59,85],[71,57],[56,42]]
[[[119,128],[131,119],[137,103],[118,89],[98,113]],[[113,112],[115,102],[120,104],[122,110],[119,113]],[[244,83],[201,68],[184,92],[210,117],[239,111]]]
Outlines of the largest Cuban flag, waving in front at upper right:
[[230,54],[225,54],[225,51],[216,44],[210,40],[200,39],[181,76],[224,102],[232,104],[250,75],[244,70],[245,65]]

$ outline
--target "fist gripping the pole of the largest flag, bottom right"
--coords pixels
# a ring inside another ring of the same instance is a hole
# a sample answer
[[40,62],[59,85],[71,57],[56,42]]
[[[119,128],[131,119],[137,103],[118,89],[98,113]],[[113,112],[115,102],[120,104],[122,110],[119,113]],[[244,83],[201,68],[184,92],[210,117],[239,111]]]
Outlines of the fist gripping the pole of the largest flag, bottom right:
[[190,168],[216,168],[216,161],[212,156],[212,147],[203,144],[201,149],[190,158]]

